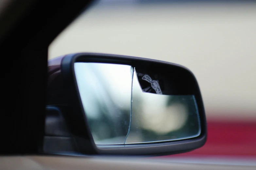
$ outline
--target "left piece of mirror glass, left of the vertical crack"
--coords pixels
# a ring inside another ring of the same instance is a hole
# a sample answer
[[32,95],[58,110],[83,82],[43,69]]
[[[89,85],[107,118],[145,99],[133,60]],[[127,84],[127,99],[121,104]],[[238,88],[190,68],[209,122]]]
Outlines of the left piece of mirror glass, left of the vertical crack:
[[131,66],[75,63],[75,74],[95,144],[124,144],[130,123]]

